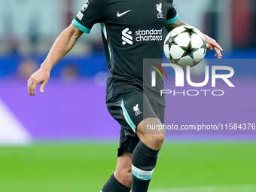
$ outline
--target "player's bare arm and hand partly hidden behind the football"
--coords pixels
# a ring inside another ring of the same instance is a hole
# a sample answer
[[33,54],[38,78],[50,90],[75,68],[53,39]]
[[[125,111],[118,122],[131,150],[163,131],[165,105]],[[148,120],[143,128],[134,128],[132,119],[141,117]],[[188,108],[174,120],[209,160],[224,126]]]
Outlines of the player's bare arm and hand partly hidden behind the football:
[[[172,24],[166,24],[165,28],[167,32],[172,31],[175,27],[178,26],[189,26],[187,23],[184,23],[181,19],[178,19],[175,23]],[[208,35],[203,34],[206,38],[206,47],[209,50],[215,50],[215,56],[218,57],[218,59],[221,59],[222,54],[221,52],[223,51],[222,47],[215,41],[215,39],[210,38]]]

